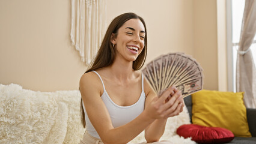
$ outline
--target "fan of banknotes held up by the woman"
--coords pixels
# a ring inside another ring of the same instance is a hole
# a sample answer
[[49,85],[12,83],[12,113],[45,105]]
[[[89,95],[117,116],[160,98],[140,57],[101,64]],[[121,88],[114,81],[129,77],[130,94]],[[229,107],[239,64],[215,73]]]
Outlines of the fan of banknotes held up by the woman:
[[203,68],[184,53],[168,53],[149,62],[142,73],[157,93],[162,94],[169,86],[176,86],[183,95],[203,89]]

